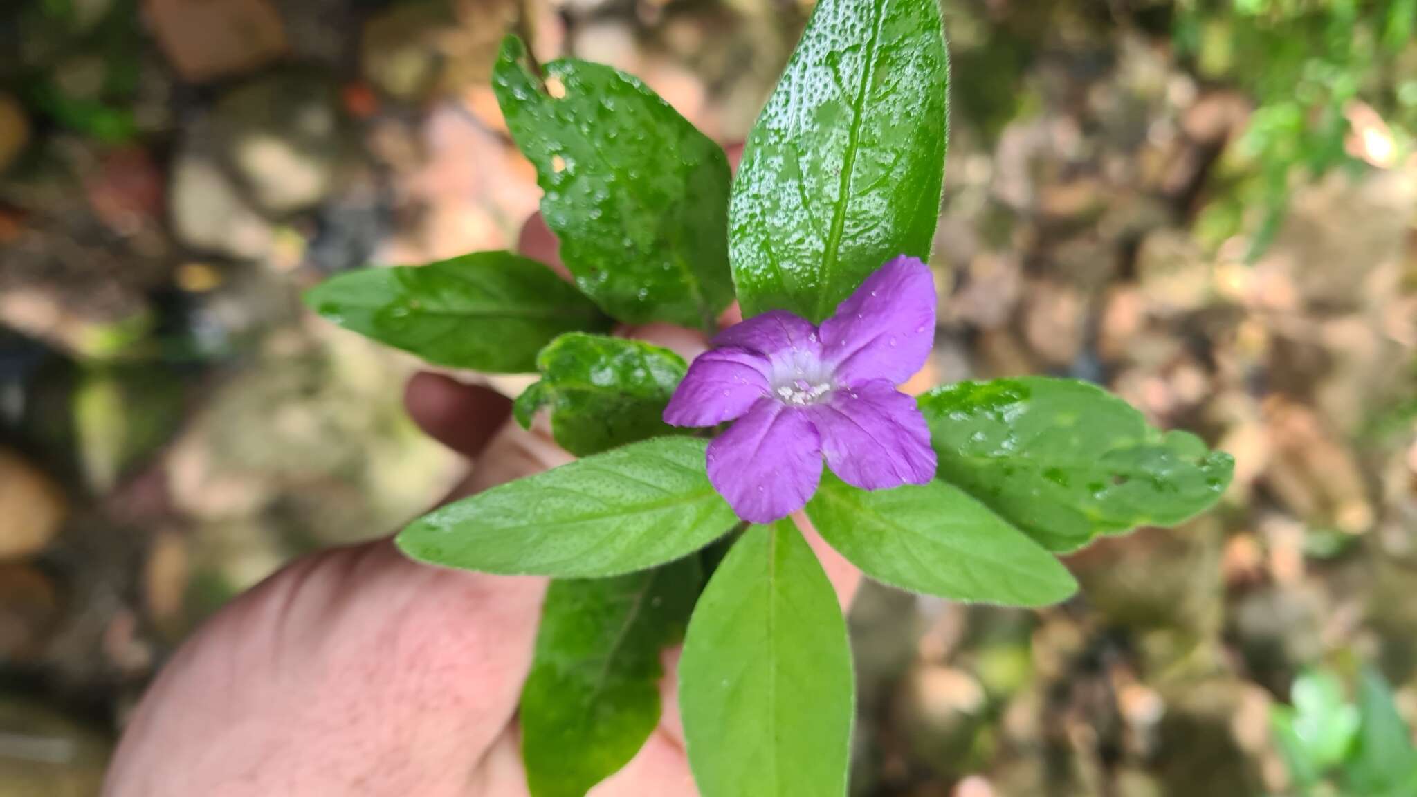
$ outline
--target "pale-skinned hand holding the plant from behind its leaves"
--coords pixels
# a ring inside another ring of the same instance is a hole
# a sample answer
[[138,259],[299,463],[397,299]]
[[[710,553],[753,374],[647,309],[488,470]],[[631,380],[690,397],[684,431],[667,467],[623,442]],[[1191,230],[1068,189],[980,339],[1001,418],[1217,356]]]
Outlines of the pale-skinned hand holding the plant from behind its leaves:
[[[540,220],[526,254],[555,262]],[[626,330],[689,357],[706,340]],[[410,380],[418,425],[473,464],[475,494],[570,459],[510,401],[448,376]],[[798,519],[843,606],[860,574]],[[106,797],[526,797],[517,698],[531,665],[546,579],[415,564],[388,539],[300,559],[203,625],[167,662],[129,723]],[[666,651],[663,716],[592,797],[691,797]]]

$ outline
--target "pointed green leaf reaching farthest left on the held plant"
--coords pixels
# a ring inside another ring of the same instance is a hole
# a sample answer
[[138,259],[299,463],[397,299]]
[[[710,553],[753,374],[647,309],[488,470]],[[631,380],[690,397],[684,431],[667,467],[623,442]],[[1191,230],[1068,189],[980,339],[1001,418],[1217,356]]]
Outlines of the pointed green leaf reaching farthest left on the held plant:
[[530,372],[555,336],[609,328],[574,285],[510,252],[350,271],[306,291],[305,303],[429,363],[480,372]]

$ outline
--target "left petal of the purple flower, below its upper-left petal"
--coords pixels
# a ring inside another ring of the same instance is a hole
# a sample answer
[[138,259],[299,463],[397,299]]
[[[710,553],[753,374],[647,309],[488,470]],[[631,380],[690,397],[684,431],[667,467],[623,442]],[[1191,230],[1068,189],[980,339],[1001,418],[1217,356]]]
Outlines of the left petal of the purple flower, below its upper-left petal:
[[713,349],[699,355],[665,407],[665,423],[711,427],[748,411],[769,394],[768,360],[744,349]]

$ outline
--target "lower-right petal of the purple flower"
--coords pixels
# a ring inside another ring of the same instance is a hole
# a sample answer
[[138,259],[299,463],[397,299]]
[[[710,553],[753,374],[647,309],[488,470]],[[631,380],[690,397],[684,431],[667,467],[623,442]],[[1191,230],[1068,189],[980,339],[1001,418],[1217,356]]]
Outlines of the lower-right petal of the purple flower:
[[826,464],[862,489],[927,484],[935,476],[930,428],[915,400],[887,380],[835,390],[808,408]]

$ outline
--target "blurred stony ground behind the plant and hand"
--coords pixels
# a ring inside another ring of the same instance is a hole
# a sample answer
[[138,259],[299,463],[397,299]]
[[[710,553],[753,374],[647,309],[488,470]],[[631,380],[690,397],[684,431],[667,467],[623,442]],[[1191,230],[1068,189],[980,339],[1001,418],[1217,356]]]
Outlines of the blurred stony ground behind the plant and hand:
[[[1417,1],[944,7],[931,381],[1095,380],[1237,472],[1216,512],[1070,557],[1058,608],[867,589],[856,790],[1297,794],[1274,718],[1301,672],[1374,665],[1417,719]],[[487,84],[510,26],[735,142],[809,13],[4,0],[0,797],[95,794],[197,623],[459,474],[400,406],[417,363],[298,296],[516,245],[540,191]]]

